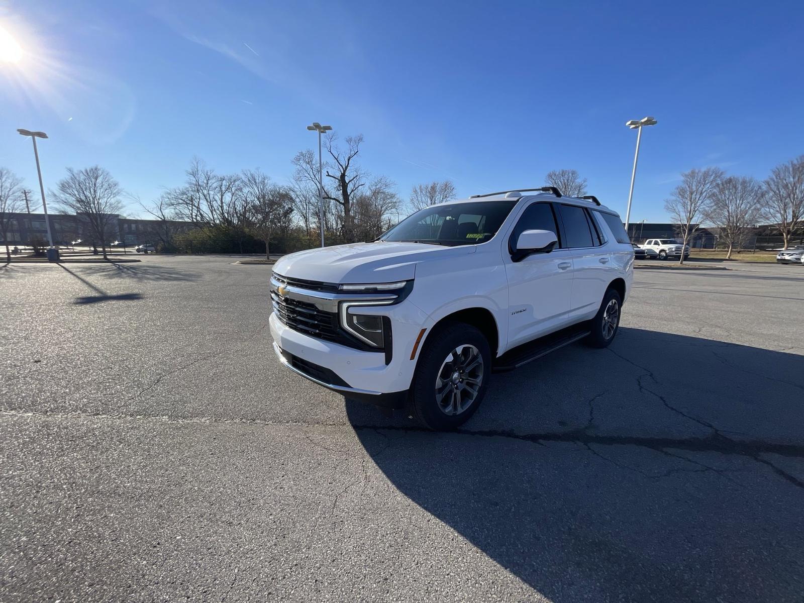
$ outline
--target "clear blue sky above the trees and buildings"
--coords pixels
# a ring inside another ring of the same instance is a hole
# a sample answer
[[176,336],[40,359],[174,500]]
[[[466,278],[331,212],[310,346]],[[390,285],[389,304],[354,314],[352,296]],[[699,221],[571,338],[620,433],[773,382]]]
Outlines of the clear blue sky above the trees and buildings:
[[[632,221],[666,218],[692,167],[763,178],[804,153],[801,2],[88,2],[0,0],[23,47],[0,62],[0,166],[35,188],[95,163],[144,201],[194,155],[282,183],[305,126],[363,133],[404,198],[536,187],[575,168]],[[137,214],[136,207],[130,213]]]

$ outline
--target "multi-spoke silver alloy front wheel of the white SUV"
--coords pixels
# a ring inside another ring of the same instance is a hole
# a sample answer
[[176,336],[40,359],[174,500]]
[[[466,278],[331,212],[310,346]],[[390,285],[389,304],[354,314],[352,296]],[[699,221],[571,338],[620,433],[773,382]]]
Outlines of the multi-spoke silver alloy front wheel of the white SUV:
[[456,347],[436,375],[436,402],[446,415],[459,415],[478,397],[483,383],[483,357],[470,344]]

